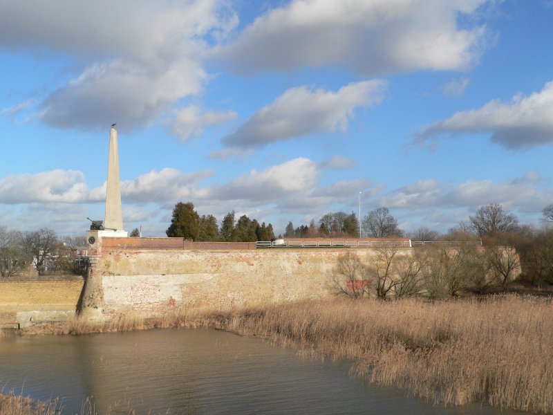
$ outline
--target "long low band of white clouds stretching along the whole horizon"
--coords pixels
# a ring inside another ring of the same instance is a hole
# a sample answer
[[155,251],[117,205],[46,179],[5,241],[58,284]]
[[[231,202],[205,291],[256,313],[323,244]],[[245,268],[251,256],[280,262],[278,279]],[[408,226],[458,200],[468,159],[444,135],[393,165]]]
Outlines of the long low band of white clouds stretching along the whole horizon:
[[[411,228],[427,225],[444,232],[467,220],[480,205],[500,203],[521,217],[536,221],[553,200],[553,190],[538,172],[504,182],[469,180],[455,185],[435,179],[416,181],[384,193],[382,185],[365,178],[321,185],[321,167],[309,158],[294,158],[263,170],[202,185],[210,171],[182,173],[162,169],[122,182],[124,222],[144,224],[149,235],[164,234],[178,201],[193,201],[200,214],[221,219],[230,210],[239,216],[283,226],[304,218],[316,220],[326,212],[357,212],[362,190],[362,214],[386,206]],[[59,232],[82,232],[86,216],[102,219],[106,188],[89,190],[82,172],[54,170],[10,176],[0,181],[0,224],[19,230],[45,225]],[[536,222],[534,222],[536,223]],[[296,223],[299,225],[300,223]]]

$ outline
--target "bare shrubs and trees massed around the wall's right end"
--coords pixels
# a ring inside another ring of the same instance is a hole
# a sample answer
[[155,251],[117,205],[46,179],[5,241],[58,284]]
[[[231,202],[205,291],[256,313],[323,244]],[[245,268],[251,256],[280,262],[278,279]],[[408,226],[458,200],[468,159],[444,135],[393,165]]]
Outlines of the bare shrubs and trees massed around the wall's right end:
[[[553,205],[543,209],[541,228],[521,225],[518,218],[491,203],[447,234],[419,228],[413,240],[482,241],[447,248],[429,244],[401,255],[398,246],[378,248],[366,260],[353,252],[339,257],[331,279],[339,293],[379,298],[424,295],[431,299],[461,291],[485,293],[515,277],[532,286],[553,285]],[[520,274],[518,274],[520,272]]]

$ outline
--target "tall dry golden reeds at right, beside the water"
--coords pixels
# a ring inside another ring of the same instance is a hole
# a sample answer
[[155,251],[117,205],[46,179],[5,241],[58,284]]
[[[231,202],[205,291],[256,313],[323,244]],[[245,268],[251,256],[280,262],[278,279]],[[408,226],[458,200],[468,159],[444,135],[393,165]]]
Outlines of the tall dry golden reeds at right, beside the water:
[[353,360],[357,376],[434,403],[553,413],[551,299],[336,299],[207,320],[325,358]]

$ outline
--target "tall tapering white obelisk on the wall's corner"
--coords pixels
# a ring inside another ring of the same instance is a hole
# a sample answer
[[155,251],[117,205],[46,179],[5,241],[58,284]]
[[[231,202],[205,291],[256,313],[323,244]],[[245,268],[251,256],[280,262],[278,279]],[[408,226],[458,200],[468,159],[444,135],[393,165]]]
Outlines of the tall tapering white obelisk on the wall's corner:
[[[106,188],[106,219],[104,220],[106,231],[102,236],[126,237],[123,230],[123,210],[121,208],[121,183],[119,178],[119,150],[117,142],[117,130],[115,124],[109,131],[109,161],[108,180]],[[124,234],[123,234],[124,233]]]

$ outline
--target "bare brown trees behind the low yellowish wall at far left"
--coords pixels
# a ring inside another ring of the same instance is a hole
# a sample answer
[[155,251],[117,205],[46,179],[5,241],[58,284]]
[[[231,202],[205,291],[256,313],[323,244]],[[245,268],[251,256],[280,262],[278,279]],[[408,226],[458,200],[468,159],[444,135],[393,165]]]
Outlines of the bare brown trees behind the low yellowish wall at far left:
[[19,276],[31,264],[40,275],[84,273],[71,250],[85,246],[84,236],[59,237],[48,228],[19,232],[0,226],[0,276]]

